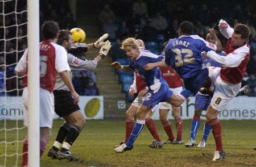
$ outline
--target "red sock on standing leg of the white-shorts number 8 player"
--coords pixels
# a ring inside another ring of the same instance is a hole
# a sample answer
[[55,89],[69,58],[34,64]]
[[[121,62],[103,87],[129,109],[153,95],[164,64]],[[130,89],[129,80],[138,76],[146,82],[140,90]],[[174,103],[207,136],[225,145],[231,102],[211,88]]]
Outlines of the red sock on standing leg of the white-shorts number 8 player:
[[221,124],[218,121],[218,118],[214,118],[209,122],[210,122],[210,126],[212,126],[212,133],[215,139],[216,151],[222,152],[223,147],[222,147]]

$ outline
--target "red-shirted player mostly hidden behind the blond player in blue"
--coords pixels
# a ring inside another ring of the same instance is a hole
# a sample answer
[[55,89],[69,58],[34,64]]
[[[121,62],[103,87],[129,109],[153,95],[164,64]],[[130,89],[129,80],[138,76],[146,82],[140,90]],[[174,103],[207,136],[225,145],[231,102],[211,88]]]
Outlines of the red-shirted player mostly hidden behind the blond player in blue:
[[[137,39],[136,42],[140,48],[145,48],[144,42],[141,39]],[[147,91],[148,87],[146,86],[146,82],[143,81],[143,78],[137,72],[134,72],[134,82],[133,85],[130,86],[129,95],[131,97],[134,97],[134,94],[138,95],[134,99],[133,103],[131,103],[129,109],[125,112],[125,141],[122,141],[121,143],[119,143],[119,145],[126,143],[126,141],[129,139],[131,131],[133,130],[134,127],[134,116],[136,115],[139,106],[142,105],[142,99],[144,98],[144,95],[147,93]],[[158,135],[158,131],[155,126],[155,122],[150,117],[150,112],[148,112],[146,115],[145,124],[148,130],[150,131],[151,135],[154,137],[154,140],[150,144],[150,147],[163,147],[163,143]],[[115,147],[118,147],[119,145],[115,145]]]

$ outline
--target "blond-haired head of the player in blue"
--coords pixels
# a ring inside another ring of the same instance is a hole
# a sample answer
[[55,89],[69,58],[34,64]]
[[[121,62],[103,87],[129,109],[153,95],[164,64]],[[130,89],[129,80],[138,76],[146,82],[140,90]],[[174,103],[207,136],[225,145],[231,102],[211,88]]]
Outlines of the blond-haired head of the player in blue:
[[141,47],[139,47],[135,38],[128,37],[127,39],[123,40],[121,49],[125,51],[126,55],[131,60],[135,60],[137,57],[139,57]]

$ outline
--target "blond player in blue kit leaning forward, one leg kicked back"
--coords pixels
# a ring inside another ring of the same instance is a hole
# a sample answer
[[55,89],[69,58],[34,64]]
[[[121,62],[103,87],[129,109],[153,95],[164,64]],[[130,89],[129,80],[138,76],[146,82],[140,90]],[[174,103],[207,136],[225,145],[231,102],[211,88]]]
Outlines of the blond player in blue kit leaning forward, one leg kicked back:
[[127,66],[121,66],[119,62],[113,62],[111,65],[114,68],[121,69],[126,72],[138,72],[146,82],[148,93],[145,95],[142,105],[138,108],[137,121],[128,141],[114,148],[114,151],[118,153],[122,153],[133,148],[133,143],[145,124],[145,116],[152,107],[159,102],[164,101],[178,107],[183,102],[183,99],[180,96],[173,94],[172,90],[169,89],[169,86],[163,79],[159,68],[153,68],[151,70],[144,69],[144,66],[150,62],[163,60],[163,56],[158,56],[154,53],[141,49],[136,40],[132,37],[129,37],[122,42],[122,49],[130,58],[130,64]]

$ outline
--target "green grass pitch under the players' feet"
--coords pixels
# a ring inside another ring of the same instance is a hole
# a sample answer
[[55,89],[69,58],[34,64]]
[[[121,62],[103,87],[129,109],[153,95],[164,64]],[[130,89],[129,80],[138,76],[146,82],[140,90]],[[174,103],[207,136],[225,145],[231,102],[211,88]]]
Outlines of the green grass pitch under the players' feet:
[[[174,121],[171,120],[175,131]],[[135,141],[132,151],[115,153],[114,145],[117,145],[125,136],[124,120],[88,120],[85,128],[73,144],[71,152],[80,157],[77,162],[68,160],[53,160],[47,157],[47,152],[52,146],[59,126],[63,120],[55,120],[51,141],[47,145],[46,152],[41,159],[41,166],[256,166],[256,151],[252,149],[256,145],[255,120],[222,120],[222,132],[226,159],[221,162],[212,162],[215,149],[214,139],[210,133],[206,148],[186,148],[185,145],[164,145],[162,149],[151,149],[148,144],[152,137],[145,126],[141,135]],[[22,122],[18,122],[19,127]],[[191,120],[183,122],[183,141],[189,137]],[[197,143],[203,133],[204,121],[197,133]],[[0,122],[0,129],[5,122]],[[15,127],[15,121],[7,121],[6,128]],[[159,135],[162,140],[167,139],[162,124],[156,121]],[[5,153],[5,143],[1,141],[16,140],[16,131],[0,131],[0,155]],[[19,131],[19,140],[26,136],[26,129]],[[7,154],[16,152],[17,144],[7,144]],[[19,153],[22,152],[22,143],[18,145]],[[0,166],[3,166],[5,157],[0,157]],[[8,157],[7,166],[15,166],[16,157]],[[18,166],[20,157],[18,158]]]

